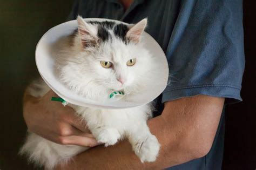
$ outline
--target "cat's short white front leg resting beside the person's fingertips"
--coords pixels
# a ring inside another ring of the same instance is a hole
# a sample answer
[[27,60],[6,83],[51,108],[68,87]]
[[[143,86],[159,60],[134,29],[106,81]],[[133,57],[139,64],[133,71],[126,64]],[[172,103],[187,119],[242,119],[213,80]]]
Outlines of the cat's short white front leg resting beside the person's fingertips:
[[96,126],[94,128],[90,128],[90,130],[96,140],[105,144],[105,146],[114,145],[117,143],[118,139],[121,138],[121,134],[113,127]]

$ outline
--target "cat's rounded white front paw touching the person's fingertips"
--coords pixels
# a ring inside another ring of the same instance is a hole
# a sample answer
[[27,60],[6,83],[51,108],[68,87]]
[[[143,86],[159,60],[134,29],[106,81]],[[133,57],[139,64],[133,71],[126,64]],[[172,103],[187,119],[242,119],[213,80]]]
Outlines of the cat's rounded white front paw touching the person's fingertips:
[[99,131],[96,139],[105,146],[114,145],[120,138],[120,133],[115,128],[104,128]]

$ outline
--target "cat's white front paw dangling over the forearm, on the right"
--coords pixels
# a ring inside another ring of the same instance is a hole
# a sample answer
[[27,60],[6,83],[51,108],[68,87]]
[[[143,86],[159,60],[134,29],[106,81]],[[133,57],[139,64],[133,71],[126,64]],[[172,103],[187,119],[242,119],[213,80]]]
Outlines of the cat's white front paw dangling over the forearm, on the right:
[[143,141],[138,141],[133,149],[140,161],[153,162],[157,159],[160,144],[154,135],[149,135]]

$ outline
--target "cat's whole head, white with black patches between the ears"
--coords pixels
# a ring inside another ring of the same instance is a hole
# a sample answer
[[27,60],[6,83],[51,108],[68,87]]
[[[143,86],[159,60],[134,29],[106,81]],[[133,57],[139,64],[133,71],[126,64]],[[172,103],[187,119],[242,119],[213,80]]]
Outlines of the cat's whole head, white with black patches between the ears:
[[62,80],[90,98],[110,91],[129,94],[143,90],[153,65],[152,56],[140,42],[147,19],[132,26],[85,22],[79,16],[77,22]]

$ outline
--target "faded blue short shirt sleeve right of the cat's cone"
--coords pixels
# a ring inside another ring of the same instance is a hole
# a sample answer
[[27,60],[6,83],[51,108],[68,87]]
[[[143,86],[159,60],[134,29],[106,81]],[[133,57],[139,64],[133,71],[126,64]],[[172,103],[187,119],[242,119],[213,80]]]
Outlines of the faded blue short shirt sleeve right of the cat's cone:
[[241,101],[244,72],[242,1],[181,1],[166,57],[162,103],[205,94]]

